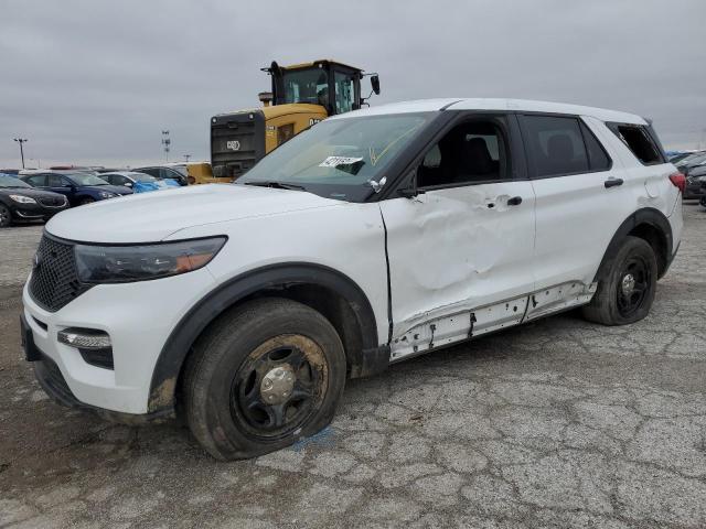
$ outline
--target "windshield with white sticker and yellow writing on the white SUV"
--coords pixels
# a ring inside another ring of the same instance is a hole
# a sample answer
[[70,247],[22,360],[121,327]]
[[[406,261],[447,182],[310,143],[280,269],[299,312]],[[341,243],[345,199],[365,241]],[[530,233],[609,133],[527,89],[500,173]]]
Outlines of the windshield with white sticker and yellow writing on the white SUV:
[[398,114],[322,121],[274,150],[237,183],[285,183],[329,198],[362,202],[435,116]]

